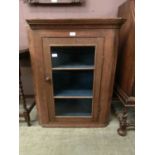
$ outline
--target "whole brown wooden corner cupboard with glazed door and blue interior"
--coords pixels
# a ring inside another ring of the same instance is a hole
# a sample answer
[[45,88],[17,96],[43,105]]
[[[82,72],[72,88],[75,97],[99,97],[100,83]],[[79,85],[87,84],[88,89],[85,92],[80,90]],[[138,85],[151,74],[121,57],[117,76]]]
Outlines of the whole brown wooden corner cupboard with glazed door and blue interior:
[[103,127],[109,122],[124,19],[29,19],[39,122],[44,127]]

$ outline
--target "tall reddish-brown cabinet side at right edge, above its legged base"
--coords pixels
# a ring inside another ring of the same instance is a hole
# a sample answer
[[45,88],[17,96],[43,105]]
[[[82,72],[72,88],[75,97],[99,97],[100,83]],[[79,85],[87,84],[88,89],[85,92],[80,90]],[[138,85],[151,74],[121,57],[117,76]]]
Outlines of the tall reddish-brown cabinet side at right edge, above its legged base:
[[132,96],[135,78],[134,1],[127,1],[120,6],[118,16],[127,21],[120,30],[116,85],[128,96]]

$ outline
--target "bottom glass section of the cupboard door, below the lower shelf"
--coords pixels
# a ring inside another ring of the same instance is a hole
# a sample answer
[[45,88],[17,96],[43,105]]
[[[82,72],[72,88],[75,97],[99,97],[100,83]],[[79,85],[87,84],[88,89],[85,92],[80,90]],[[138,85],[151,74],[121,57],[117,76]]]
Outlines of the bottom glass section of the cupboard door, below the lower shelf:
[[55,99],[56,116],[91,116],[91,99]]

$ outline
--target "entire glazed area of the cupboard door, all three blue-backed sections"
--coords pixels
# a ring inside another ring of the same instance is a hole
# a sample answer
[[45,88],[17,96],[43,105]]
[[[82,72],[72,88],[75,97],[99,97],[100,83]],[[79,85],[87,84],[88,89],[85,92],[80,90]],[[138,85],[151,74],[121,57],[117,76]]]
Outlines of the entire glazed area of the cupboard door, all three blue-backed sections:
[[94,57],[94,46],[51,47],[56,116],[91,116]]

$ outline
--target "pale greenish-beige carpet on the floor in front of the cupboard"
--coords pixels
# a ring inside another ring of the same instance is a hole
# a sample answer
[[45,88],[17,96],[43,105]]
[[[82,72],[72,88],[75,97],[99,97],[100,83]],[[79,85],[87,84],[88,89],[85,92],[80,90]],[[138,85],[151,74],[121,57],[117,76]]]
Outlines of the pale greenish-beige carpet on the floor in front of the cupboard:
[[20,123],[20,155],[134,155],[135,132],[117,134],[118,121],[111,118],[105,128],[42,128],[36,109],[32,126]]

